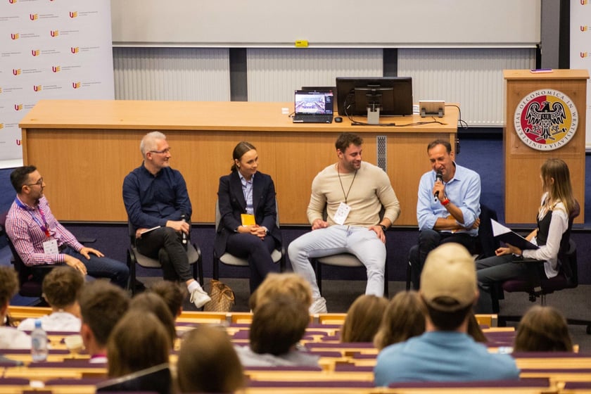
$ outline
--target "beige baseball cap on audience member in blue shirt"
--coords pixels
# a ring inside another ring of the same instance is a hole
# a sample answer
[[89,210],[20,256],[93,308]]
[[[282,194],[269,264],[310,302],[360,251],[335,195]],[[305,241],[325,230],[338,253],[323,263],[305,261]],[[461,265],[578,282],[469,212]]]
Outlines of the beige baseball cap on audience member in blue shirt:
[[[459,243],[444,243],[431,250],[421,273],[421,295],[429,306],[452,312],[472,305],[477,291],[474,258]],[[448,297],[457,305],[438,303]]]

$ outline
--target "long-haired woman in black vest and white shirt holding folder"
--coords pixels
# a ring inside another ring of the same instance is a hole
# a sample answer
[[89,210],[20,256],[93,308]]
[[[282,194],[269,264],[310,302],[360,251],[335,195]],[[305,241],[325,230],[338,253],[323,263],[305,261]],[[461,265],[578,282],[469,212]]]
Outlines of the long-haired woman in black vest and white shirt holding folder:
[[532,288],[541,279],[559,272],[559,255],[568,250],[568,220],[578,210],[573,196],[571,173],[561,159],[547,159],[540,170],[542,201],[538,208],[538,227],[526,239],[538,249],[521,250],[509,245],[495,250],[496,256],[476,261],[481,297],[478,312],[492,313],[490,289],[508,279],[529,281]]

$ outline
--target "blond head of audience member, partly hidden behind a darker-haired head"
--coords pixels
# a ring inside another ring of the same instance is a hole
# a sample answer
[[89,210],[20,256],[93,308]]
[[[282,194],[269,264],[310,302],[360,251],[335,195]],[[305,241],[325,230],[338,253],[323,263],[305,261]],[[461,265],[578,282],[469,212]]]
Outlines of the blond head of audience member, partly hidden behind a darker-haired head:
[[310,283],[301,275],[293,272],[277,274],[271,272],[262,281],[257,291],[250,295],[250,310],[255,310],[257,305],[273,301],[281,295],[295,299],[298,303],[310,307],[312,304],[312,290]]

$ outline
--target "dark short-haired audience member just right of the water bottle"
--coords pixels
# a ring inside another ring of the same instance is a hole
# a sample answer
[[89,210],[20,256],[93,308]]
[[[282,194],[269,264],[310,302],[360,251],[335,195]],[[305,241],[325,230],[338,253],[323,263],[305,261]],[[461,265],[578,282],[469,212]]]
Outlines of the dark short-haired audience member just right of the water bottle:
[[82,343],[91,363],[107,362],[107,340],[115,324],[127,312],[129,295],[106,281],[85,284],[78,298]]

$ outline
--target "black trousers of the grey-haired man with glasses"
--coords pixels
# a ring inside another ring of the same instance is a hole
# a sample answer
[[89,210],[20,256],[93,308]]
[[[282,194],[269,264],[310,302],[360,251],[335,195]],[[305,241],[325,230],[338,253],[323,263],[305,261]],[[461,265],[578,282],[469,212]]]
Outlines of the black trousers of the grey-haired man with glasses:
[[140,239],[136,240],[136,246],[142,255],[160,261],[165,280],[188,281],[193,279],[181,234],[172,227],[160,227],[160,229],[142,235]]

